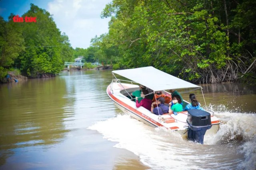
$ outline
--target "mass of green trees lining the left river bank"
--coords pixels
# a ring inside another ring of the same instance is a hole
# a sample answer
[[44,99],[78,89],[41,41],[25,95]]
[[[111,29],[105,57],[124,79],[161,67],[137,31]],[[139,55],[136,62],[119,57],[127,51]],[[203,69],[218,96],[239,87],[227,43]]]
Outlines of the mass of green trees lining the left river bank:
[[36,22],[14,22],[13,14],[8,21],[0,17],[1,79],[14,67],[30,77],[58,74],[64,61],[72,58],[68,37],[60,33],[49,12],[31,4],[25,16],[36,17]]

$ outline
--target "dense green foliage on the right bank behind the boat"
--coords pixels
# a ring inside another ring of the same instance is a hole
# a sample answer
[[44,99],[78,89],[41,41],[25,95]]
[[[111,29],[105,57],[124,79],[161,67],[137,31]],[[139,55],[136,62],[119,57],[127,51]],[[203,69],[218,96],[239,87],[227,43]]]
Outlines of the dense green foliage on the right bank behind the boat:
[[255,7],[253,0],[113,0],[102,12],[112,18],[99,51],[121,68],[151,65],[192,82],[236,81],[255,55]]

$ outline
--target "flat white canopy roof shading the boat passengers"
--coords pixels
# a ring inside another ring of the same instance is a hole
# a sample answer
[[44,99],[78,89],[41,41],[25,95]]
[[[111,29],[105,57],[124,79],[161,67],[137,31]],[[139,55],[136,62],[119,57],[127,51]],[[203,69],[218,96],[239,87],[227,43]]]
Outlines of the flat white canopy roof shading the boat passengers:
[[165,72],[162,72],[161,70],[158,70],[152,66],[131,68],[125,70],[114,70],[112,71],[112,73],[118,74],[134,82],[142,84],[154,91],[200,87]]

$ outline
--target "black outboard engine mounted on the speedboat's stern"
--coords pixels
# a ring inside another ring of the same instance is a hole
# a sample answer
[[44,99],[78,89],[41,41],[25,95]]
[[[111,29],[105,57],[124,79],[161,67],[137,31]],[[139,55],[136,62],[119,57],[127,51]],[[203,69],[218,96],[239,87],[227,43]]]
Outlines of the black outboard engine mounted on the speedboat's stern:
[[188,110],[188,140],[204,143],[204,135],[212,127],[211,114],[198,109]]

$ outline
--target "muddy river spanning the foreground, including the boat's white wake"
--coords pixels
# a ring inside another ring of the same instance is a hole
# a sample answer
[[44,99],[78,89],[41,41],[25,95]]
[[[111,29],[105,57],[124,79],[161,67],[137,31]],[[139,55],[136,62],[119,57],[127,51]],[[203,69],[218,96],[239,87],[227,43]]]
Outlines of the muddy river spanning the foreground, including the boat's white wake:
[[88,70],[0,85],[0,170],[256,168],[255,86],[201,85],[221,121],[201,145],[122,113],[106,94],[111,80]]

